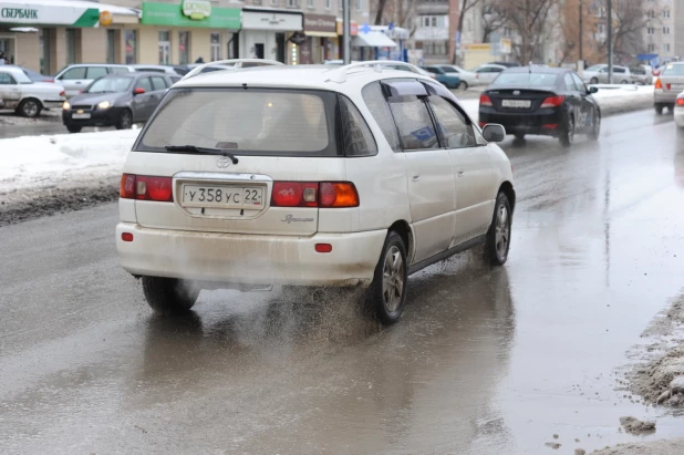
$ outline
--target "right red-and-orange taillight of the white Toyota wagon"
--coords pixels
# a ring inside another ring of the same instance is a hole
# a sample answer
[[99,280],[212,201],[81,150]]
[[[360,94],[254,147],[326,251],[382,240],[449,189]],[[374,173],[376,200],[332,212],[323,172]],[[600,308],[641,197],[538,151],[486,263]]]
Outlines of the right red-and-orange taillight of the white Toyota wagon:
[[359,193],[348,182],[276,182],[271,207],[359,207]]

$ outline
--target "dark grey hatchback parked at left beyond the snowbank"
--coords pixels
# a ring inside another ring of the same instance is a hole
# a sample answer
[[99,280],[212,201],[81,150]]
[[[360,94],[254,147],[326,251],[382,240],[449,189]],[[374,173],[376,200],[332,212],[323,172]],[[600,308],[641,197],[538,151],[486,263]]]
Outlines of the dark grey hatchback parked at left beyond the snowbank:
[[106,75],[64,102],[62,122],[70,133],[84,126],[127,130],[147,122],[172,85],[170,77],[159,73]]

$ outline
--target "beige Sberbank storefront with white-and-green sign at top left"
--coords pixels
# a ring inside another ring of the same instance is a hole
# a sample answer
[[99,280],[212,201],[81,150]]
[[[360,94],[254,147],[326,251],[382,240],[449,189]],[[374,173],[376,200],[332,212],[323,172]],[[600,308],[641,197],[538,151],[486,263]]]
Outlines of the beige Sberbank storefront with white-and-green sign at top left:
[[137,22],[137,11],[112,4],[0,0],[0,51],[15,64],[54,74],[122,52],[121,29]]

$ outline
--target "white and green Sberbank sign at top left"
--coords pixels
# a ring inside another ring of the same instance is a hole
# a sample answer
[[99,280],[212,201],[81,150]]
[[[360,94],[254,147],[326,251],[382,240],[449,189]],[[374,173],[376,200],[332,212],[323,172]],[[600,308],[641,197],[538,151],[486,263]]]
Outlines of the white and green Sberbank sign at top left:
[[0,23],[95,27],[100,22],[97,8],[79,8],[0,1]]

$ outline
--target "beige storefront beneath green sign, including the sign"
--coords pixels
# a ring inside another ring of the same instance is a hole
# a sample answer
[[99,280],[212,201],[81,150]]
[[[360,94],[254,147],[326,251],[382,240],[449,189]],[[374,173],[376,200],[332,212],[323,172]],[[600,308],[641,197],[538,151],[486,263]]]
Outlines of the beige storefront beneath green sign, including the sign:
[[236,58],[240,15],[240,9],[206,0],[144,2],[141,27],[126,31],[126,61],[184,65]]

